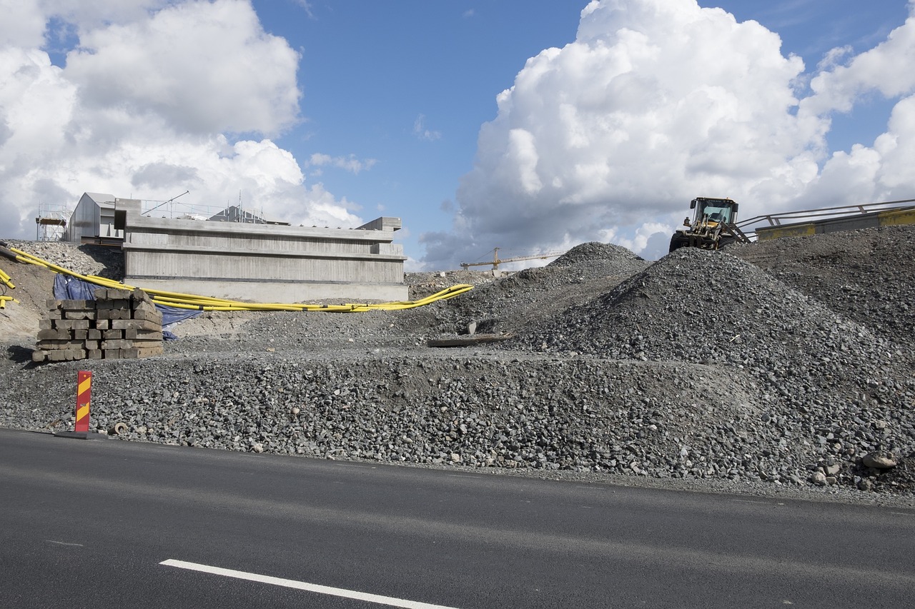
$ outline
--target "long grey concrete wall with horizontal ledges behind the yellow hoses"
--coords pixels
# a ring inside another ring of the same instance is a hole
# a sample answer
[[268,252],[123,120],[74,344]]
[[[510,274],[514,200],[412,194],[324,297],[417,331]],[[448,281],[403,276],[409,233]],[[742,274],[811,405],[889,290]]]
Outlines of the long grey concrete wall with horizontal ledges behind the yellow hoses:
[[408,296],[406,257],[391,242],[397,218],[318,229],[147,218],[131,199],[118,199],[116,208],[124,214],[126,283],[262,303]]

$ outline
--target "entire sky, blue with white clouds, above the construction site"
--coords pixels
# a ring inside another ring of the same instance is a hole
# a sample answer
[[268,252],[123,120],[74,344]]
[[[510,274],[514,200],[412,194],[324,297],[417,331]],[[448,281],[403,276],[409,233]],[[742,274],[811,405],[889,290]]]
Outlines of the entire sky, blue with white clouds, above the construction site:
[[[0,239],[83,192],[354,228],[405,268],[915,198],[915,0],[0,0]],[[537,262],[534,262],[537,263]],[[539,262],[542,263],[542,262]]]

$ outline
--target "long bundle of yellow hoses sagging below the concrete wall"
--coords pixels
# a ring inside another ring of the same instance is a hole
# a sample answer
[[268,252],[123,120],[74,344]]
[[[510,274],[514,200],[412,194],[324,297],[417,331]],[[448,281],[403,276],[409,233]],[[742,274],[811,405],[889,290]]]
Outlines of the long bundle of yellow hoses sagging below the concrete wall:
[[[126,283],[115,282],[113,279],[99,277],[98,275],[82,275],[79,272],[73,272],[57,264],[42,260],[27,251],[9,248],[16,253],[16,260],[28,264],[43,266],[51,271],[60,274],[76,277],[87,283],[94,283],[102,287],[116,288],[120,290],[135,290],[135,286]],[[2,271],[0,271],[2,272]],[[4,273],[5,274],[5,273]],[[189,309],[195,311],[324,311],[328,313],[361,313],[365,311],[401,311],[404,309],[413,309],[418,306],[431,305],[440,300],[454,298],[473,289],[468,283],[458,283],[449,288],[420,298],[419,300],[398,301],[393,303],[346,303],[343,305],[303,305],[298,303],[242,303],[237,300],[226,300],[223,298],[214,298],[212,296],[199,296],[196,294],[181,294],[178,292],[167,292],[165,290],[156,290],[153,288],[146,289],[141,287],[146,294],[149,294],[153,302],[158,305],[174,306],[179,309]],[[5,297],[12,300],[11,297]]]

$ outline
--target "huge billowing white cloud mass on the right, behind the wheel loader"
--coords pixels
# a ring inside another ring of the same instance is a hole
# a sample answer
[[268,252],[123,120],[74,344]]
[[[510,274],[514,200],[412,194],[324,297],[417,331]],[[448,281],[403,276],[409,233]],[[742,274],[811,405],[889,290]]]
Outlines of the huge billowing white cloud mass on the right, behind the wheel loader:
[[453,230],[421,238],[425,263],[602,238],[653,256],[696,196],[735,198],[743,218],[911,196],[911,102],[870,147],[829,157],[825,135],[830,113],[868,91],[912,91],[915,71],[900,67],[915,65],[913,37],[910,18],[867,53],[834,50],[811,79],[755,21],[694,0],[595,0],[575,42],[528,59],[498,96]]

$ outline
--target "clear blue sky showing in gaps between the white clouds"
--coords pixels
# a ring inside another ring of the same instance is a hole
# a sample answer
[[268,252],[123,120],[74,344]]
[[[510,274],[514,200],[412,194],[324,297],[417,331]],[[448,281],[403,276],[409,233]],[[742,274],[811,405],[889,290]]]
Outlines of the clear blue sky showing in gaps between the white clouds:
[[[495,96],[511,86],[528,58],[575,39],[586,4],[313,0],[303,15],[292,0],[256,2],[264,27],[288,39],[303,58],[299,80],[307,123],[279,142],[302,150],[296,155],[302,158],[321,150],[377,159],[359,175],[326,170],[319,179],[330,191],[361,202],[363,215],[382,206],[379,213],[403,216],[410,229],[404,241],[416,255],[419,234],[450,222],[443,207],[452,208],[458,179],[471,168],[479,126],[495,116]],[[832,48],[858,53],[874,47],[908,16],[901,1],[699,4],[724,8],[738,21],[759,21],[779,34],[782,52],[799,55],[808,70]],[[872,140],[892,105],[872,95],[854,112],[835,114],[831,148]],[[418,120],[434,139],[415,133]],[[684,193],[684,201],[692,196]],[[514,253],[533,253],[537,245]],[[490,243],[481,246],[488,250]]]

